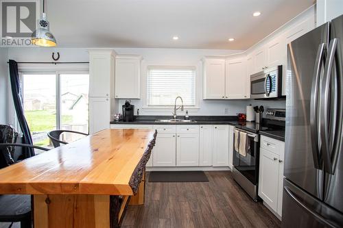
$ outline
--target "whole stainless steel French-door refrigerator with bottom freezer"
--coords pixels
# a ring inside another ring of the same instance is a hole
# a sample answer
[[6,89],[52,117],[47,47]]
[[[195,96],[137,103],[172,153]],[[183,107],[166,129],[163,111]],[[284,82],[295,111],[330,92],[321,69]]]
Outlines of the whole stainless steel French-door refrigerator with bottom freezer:
[[287,47],[282,227],[343,227],[343,16]]

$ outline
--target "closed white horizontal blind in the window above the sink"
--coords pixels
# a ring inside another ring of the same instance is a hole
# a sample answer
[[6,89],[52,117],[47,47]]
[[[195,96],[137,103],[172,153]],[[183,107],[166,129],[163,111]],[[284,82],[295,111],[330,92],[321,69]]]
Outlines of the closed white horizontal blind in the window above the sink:
[[195,67],[150,66],[147,68],[147,106],[174,105],[178,96],[182,97],[184,105],[196,105]]

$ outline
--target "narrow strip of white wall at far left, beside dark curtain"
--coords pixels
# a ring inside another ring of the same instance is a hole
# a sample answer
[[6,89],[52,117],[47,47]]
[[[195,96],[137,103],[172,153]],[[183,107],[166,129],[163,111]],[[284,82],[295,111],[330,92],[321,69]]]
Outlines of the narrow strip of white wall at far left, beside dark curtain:
[[0,48],[0,124],[7,123],[8,49]]

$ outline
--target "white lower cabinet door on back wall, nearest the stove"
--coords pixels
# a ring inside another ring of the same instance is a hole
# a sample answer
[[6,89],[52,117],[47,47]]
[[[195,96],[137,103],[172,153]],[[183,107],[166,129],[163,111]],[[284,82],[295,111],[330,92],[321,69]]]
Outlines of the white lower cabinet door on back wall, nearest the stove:
[[213,166],[228,166],[228,125],[213,126]]

